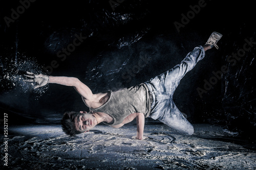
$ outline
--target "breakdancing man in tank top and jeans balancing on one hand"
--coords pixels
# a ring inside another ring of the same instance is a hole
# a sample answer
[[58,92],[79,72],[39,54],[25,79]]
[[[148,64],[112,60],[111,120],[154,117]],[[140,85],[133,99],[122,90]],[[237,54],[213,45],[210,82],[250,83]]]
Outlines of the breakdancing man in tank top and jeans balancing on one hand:
[[192,135],[194,128],[176,107],[173,94],[186,72],[204,58],[205,51],[214,46],[218,49],[217,42],[221,37],[220,33],[213,32],[205,45],[197,46],[174,68],[150,81],[115,92],[110,90],[93,94],[88,86],[74,77],[34,75],[27,72],[26,76],[31,79],[26,81],[37,83],[34,88],[48,83],[73,86],[82,96],[90,112],[67,112],[61,119],[63,131],[70,136],[87,132],[101,122],[120,128],[136,118],[136,138],[143,140],[145,117],[158,119],[181,134]]

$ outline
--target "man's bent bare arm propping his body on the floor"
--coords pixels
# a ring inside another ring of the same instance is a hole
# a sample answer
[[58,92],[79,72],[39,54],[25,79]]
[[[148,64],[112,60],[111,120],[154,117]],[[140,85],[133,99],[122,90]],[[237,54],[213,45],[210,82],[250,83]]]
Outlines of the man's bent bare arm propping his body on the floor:
[[130,123],[132,122],[136,117],[136,121],[137,121],[137,135],[136,138],[139,140],[143,140],[145,139],[145,136],[143,136],[143,132],[144,132],[144,123],[145,123],[145,116],[143,113],[132,113],[129,116],[127,116],[123,122],[119,125],[114,125],[112,126],[113,128],[120,128],[122,127],[124,124]]

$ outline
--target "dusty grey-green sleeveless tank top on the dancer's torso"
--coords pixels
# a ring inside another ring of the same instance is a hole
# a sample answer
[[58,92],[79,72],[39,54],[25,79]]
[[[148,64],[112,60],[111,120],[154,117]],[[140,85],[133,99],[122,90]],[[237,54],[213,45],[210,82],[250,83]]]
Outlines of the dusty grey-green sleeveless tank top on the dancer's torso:
[[[148,117],[151,112],[151,99],[147,86],[142,83],[126,89],[110,91],[110,98],[98,108],[90,108],[94,112],[102,112],[113,117],[113,121],[106,125],[119,125],[124,118],[132,113],[144,113]],[[84,102],[84,100],[83,100]],[[84,102],[84,104],[86,104]]]

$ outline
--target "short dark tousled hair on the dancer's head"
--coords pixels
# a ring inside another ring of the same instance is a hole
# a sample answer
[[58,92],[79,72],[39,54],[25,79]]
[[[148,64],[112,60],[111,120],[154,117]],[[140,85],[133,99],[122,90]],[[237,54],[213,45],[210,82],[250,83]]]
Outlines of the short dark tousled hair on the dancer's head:
[[75,129],[75,118],[81,114],[80,112],[65,112],[63,114],[62,119],[60,120],[61,128],[63,132],[65,132],[67,135],[70,135],[71,137],[75,137],[77,134],[80,134],[82,132],[77,131]]

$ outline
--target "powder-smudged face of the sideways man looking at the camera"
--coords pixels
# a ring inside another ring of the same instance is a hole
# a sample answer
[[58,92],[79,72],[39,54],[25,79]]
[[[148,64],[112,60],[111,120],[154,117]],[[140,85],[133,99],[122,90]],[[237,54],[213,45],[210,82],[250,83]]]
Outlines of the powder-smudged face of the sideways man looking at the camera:
[[89,131],[97,124],[97,120],[92,113],[80,112],[75,118],[75,128],[79,132]]

